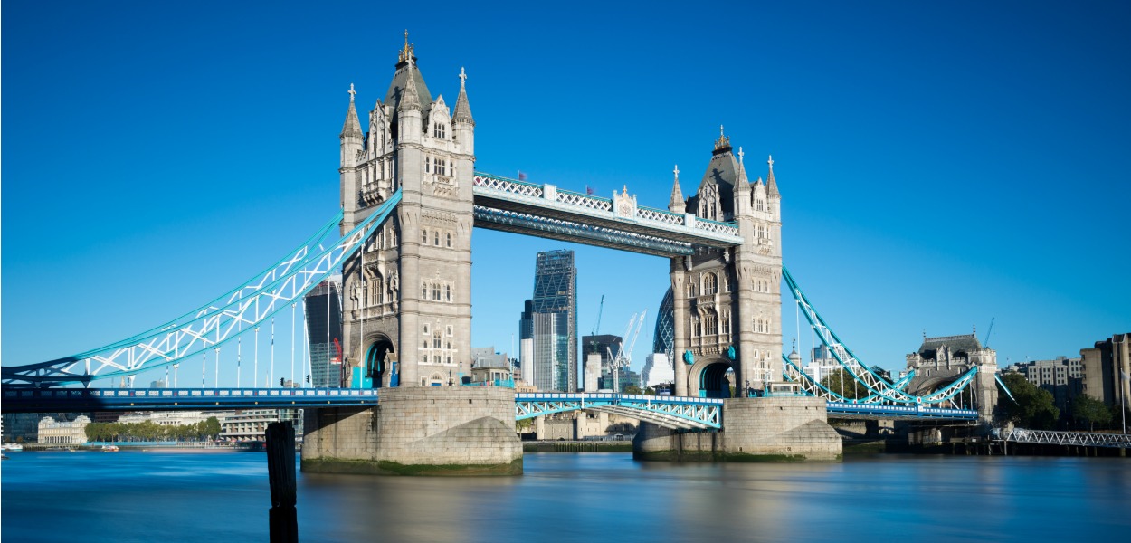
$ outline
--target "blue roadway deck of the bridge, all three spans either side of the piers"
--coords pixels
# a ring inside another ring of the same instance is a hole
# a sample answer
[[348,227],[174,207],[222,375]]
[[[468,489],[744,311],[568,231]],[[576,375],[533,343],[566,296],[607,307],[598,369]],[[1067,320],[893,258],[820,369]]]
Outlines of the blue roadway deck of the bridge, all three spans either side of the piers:
[[[249,408],[364,407],[378,404],[380,389],[359,388],[6,388],[5,413],[86,411],[218,411]],[[596,410],[679,428],[708,430],[722,424],[723,400],[632,394],[530,393],[515,395],[515,417]],[[975,421],[972,410],[828,403],[832,419]]]

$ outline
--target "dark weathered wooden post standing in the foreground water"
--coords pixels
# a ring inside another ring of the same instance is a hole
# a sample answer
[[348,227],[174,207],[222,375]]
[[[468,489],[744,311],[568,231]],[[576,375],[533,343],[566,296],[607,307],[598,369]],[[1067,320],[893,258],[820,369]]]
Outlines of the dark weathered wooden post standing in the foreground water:
[[267,479],[271,484],[271,543],[297,543],[295,515],[294,426],[291,421],[267,425]]

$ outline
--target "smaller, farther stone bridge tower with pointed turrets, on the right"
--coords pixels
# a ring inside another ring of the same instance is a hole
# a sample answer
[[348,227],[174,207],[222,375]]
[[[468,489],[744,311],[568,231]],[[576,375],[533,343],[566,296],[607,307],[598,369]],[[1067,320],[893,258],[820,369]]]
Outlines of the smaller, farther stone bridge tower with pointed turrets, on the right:
[[[694,196],[684,199],[679,169],[668,209],[697,221],[734,221],[745,240],[700,249],[671,262],[675,394],[726,397],[734,387],[782,380],[782,195],[768,161],[766,182],[750,182],[740,149],[719,133]],[[726,371],[733,369],[733,382]]]

